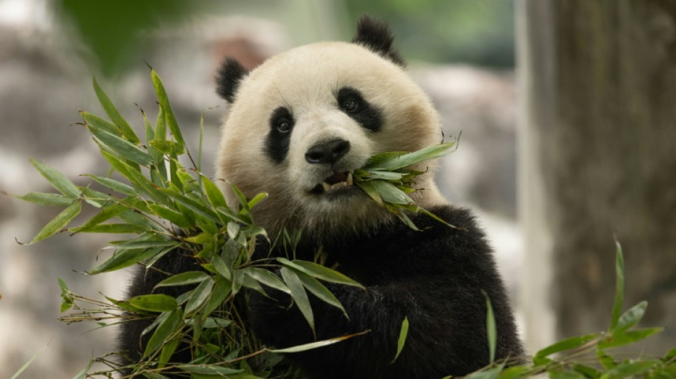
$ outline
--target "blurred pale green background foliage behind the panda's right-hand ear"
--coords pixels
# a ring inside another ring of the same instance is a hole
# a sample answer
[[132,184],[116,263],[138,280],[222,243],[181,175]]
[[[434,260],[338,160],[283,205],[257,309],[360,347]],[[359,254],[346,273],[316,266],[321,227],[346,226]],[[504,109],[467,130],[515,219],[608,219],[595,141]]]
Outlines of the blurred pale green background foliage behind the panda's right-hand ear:
[[408,60],[514,67],[513,0],[346,0],[352,20],[386,20]]

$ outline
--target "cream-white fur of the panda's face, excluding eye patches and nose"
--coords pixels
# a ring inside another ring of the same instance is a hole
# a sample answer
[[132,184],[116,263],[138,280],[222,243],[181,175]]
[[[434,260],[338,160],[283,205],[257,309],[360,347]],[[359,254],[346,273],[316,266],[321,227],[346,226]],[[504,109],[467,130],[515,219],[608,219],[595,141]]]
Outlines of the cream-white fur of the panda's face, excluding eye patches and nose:
[[[381,110],[377,132],[361,127],[339,110],[336,95],[352,87]],[[295,124],[285,159],[265,153],[270,116],[290,110]],[[349,142],[349,152],[334,165],[310,164],[307,150],[331,139]],[[239,86],[223,124],[218,178],[248,198],[268,193],[254,209],[255,222],[277,233],[282,227],[339,235],[376,228],[389,215],[365,193],[325,196],[312,189],[336,172],[354,171],[384,151],[415,151],[441,141],[438,115],[428,97],[404,71],[370,50],[352,43],[316,43],[277,55],[253,70]],[[418,177],[425,188],[413,198],[419,205],[443,202],[432,181],[433,167]],[[229,186],[223,188],[231,205]]]

